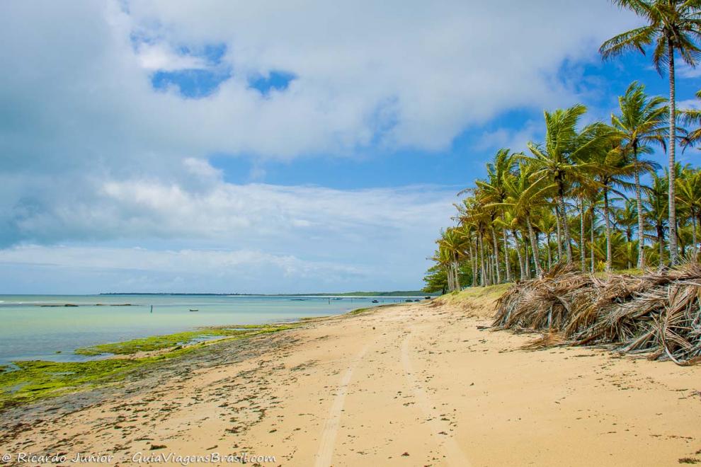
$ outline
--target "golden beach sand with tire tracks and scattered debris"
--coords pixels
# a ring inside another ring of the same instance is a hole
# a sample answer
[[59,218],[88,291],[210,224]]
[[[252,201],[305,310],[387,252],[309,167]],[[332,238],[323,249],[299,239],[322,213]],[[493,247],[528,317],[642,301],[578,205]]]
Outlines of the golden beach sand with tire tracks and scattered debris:
[[522,350],[535,335],[479,328],[493,300],[385,306],[221,342],[212,347],[236,358],[8,410],[0,454],[109,454],[123,464],[246,452],[275,456],[261,462],[275,466],[701,459],[701,367]]

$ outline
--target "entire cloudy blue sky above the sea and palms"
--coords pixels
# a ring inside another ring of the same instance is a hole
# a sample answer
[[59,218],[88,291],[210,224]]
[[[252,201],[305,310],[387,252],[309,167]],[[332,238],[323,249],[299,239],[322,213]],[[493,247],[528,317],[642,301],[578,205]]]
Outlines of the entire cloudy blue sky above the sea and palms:
[[[639,24],[608,0],[1,2],[0,294],[418,289],[457,192],[543,110],[668,93],[598,55]],[[680,106],[700,77],[679,67]]]

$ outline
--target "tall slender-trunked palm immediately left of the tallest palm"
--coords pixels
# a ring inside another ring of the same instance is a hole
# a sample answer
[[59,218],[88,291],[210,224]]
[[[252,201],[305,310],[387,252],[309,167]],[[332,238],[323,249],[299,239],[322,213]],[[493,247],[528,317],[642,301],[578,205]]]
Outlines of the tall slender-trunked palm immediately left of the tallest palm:
[[[618,98],[620,115],[611,115],[611,125],[615,128],[617,137],[620,137],[632,154],[635,166],[638,166],[639,152],[648,144],[657,143],[663,148],[666,147],[664,122],[669,112],[665,103],[666,99],[659,96],[648,98],[645,94],[645,86],[635,81],[628,86],[625,94]],[[634,178],[638,217],[638,267],[642,269],[645,265],[645,257],[642,253],[645,248],[645,226],[640,173],[640,170],[636,170]]]

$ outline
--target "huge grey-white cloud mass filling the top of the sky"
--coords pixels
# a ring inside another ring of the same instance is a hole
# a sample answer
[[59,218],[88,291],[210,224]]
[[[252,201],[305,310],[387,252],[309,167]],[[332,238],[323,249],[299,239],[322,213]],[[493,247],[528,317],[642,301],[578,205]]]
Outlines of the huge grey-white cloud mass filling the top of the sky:
[[[563,59],[598,59],[598,43],[630,23],[605,0],[0,8],[0,40],[17,44],[0,52],[11,70],[0,76],[4,113],[25,123],[4,128],[7,145],[31,153],[16,163],[51,167],[59,165],[53,158],[104,154],[109,163],[144,151],[292,158],[352,154],[377,141],[443,149],[503,110],[569,103],[572,91],[554,79]],[[132,34],[149,28],[158,42],[135,51]],[[226,45],[233,70],[217,93],[193,100],[154,92],[154,69],[204,66],[173,50],[207,44]],[[267,98],[248,88],[248,76],[273,69],[297,79]]]

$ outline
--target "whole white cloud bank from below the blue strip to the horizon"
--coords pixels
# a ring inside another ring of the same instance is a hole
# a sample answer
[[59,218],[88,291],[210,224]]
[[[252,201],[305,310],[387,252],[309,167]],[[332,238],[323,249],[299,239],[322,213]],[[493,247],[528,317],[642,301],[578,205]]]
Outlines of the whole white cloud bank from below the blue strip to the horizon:
[[234,185],[218,173],[203,186],[108,180],[59,200],[38,188],[6,216],[0,293],[35,284],[37,269],[61,272],[28,292],[76,292],[47,289],[67,277],[83,292],[183,290],[176,276],[203,292],[419,287],[455,200],[440,187]]

